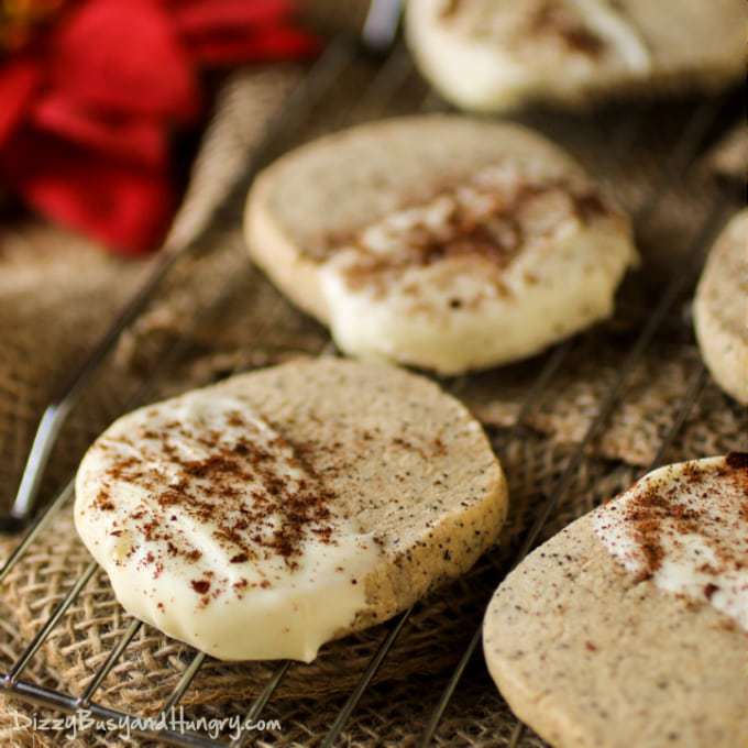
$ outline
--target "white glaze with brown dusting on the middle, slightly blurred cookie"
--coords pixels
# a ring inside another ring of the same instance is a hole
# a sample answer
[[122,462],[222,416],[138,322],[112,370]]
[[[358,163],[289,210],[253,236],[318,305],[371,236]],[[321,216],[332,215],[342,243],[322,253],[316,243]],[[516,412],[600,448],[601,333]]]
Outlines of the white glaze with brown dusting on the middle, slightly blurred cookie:
[[586,179],[507,160],[328,248],[320,275],[342,350],[454,374],[605,318],[636,261]]

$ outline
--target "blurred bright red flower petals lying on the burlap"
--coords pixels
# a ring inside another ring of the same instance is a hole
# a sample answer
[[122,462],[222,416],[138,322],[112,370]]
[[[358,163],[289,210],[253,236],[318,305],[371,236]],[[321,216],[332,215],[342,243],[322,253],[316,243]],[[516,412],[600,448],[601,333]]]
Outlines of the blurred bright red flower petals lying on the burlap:
[[175,205],[169,134],[200,112],[200,68],[314,53],[290,10],[289,0],[68,2],[44,33],[6,58],[0,50],[0,180],[121,251],[154,246]]

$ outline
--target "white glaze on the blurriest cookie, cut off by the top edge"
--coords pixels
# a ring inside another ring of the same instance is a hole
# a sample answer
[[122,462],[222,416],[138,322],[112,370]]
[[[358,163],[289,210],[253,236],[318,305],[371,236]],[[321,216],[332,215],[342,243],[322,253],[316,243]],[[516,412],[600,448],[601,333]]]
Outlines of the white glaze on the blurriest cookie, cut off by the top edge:
[[427,77],[475,111],[579,98],[586,87],[646,79],[653,67],[636,24],[604,0],[411,0],[406,30]]

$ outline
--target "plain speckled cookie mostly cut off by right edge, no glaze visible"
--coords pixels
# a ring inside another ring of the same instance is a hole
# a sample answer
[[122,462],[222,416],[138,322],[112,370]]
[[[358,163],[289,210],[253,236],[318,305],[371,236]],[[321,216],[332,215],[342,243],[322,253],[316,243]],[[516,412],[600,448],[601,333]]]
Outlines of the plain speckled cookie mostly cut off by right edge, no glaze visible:
[[748,405],[748,208],[715,242],[693,312],[698,346],[712,376]]

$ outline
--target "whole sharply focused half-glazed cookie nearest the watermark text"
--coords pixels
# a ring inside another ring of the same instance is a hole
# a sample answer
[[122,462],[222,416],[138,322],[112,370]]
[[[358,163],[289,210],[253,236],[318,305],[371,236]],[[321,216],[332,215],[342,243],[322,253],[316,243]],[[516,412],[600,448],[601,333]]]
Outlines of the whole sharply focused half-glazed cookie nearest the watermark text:
[[310,661],[465,572],[506,505],[460,403],[328,359],[120,418],[80,465],[75,519],[135,617],[219,659]]

